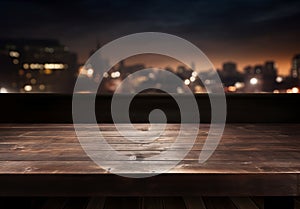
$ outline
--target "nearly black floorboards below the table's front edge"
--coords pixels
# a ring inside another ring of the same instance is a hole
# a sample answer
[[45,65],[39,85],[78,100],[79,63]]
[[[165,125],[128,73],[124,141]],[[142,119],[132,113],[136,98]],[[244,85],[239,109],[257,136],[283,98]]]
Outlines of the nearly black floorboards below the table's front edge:
[[[292,199],[293,200],[293,199]],[[1,198],[0,208],[22,209],[267,209],[253,197],[32,197]],[[296,201],[296,200],[295,200]],[[273,206],[274,209],[277,209]],[[281,209],[281,208],[280,208]],[[282,207],[286,209],[286,207]],[[295,207],[299,209],[299,207]]]

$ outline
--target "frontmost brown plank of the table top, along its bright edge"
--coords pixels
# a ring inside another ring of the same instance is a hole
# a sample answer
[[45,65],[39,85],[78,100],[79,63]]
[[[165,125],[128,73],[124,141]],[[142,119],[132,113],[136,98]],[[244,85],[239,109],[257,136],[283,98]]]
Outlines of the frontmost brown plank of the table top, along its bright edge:
[[[149,161],[153,166],[153,170],[149,167],[149,171],[153,172],[160,167],[174,163],[170,161]],[[103,161],[102,166],[106,168],[118,169],[124,164],[130,165],[130,161]],[[282,162],[282,165],[276,163],[256,163],[247,162],[207,162],[199,164],[198,161],[182,161],[169,171],[171,174],[287,174],[295,175],[298,172],[297,167],[290,167],[291,164]],[[272,167],[273,166],[273,167]],[[102,167],[99,167],[92,161],[1,161],[1,174],[103,174],[107,173]],[[234,167],[234,168],[232,168]],[[4,169],[5,168],[5,169]],[[232,169],[231,169],[232,168]],[[122,167],[126,171],[126,167]],[[117,171],[117,170],[116,170]],[[128,172],[134,172],[128,168]],[[135,173],[138,173],[136,170]],[[297,187],[297,184],[295,185]]]

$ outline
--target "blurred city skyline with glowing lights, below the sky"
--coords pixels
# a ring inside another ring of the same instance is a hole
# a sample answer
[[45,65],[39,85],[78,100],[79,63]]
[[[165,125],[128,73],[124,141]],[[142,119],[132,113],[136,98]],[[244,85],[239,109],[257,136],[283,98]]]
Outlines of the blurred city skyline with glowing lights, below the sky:
[[[99,47],[91,50],[91,54]],[[92,67],[78,63],[77,54],[57,40],[0,40],[0,93],[71,94],[78,76],[95,85],[103,78],[99,92],[113,93],[124,78],[149,67],[144,63],[128,64],[124,60],[100,75]],[[165,67],[165,70],[175,73],[183,81],[174,93],[185,93],[186,88],[194,93],[205,93],[205,86],[213,88],[215,71],[207,69],[198,73],[193,69],[193,63],[191,67]],[[278,73],[275,60],[254,63],[244,69],[238,69],[235,62],[224,62],[222,69],[217,69],[217,72],[225,92],[299,93],[300,54],[291,57],[290,74],[285,76]],[[131,80],[132,86],[124,89],[126,93],[134,92],[134,86],[145,82],[155,82],[157,89],[168,84],[168,78],[162,75],[161,70]],[[157,89],[149,89],[147,93],[160,92]],[[83,89],[82,93],[88,92]]]

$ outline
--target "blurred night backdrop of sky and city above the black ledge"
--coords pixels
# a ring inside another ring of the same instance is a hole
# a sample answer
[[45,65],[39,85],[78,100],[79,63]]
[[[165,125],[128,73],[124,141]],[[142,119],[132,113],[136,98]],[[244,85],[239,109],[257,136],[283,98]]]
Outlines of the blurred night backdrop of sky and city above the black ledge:
[[124,78],[145,68],[157,70],[132,78],[133,86],[155,81],[159,89],[168,82],[161,69],[182,79],[174,93],[184,94],[186,88],[205,93],[204,86],[214,85],[214,69],[199,75],[194,63],[188,67],[162,55],[129,57],[101,75],[84,66],[104,44],[145,31],[171,33],[199,47],[225,92],[299,93],[299,22],[300,2],[291,0],[4,0],[0,93],[71,94],[79,76],[95,84],[103,78],[99,93],[111,94]]

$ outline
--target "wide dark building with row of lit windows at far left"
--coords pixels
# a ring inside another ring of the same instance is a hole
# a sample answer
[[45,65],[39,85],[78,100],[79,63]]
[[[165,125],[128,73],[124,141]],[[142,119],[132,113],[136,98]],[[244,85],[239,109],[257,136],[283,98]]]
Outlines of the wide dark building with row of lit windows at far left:
[[[0,40],[0,74],[16,92],[72,92],[77,55],[57,40]],[[1,79],[3,80],[3,79]]]

